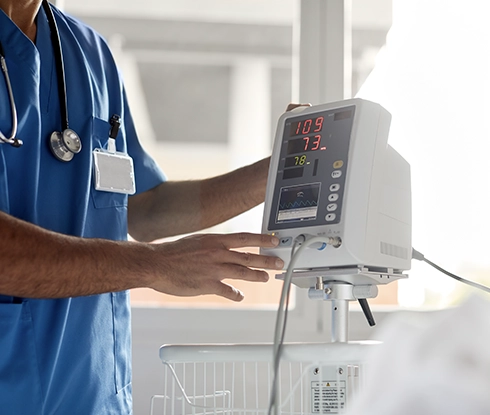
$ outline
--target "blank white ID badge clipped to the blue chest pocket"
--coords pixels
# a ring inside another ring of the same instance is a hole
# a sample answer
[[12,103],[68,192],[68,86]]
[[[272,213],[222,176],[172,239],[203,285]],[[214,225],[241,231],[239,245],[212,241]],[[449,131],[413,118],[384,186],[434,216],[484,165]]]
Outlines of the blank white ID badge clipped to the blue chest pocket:
[[136,192],[133,159],[128,154],[96,148],[93,155],[95,190],[128,195]]

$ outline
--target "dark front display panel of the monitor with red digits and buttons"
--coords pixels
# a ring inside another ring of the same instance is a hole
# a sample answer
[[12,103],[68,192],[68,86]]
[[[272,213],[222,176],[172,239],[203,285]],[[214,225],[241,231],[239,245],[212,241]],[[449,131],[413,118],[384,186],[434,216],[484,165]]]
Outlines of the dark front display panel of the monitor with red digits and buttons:
[[354,116],[351,105],[285,120],[269,230],[340,222]]

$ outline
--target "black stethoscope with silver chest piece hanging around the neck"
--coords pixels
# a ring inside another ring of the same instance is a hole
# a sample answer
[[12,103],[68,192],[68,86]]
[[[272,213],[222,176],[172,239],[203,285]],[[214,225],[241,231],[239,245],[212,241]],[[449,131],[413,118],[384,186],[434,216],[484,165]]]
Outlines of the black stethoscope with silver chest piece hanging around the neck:
[[[51,43],[53,45],[54,57],[56,63],[56,73],[58,75],[58,95],[61,109],[62,131],[54,131],[49,137],[49,148],[53,155],[60,161],[70,161],[73,156],[82,149],[82,142],[78,134],[69,128],[68,123],[68,105],[66,98],[66,81],[65,81],[65,66],[63,64],[63,51],[61,49],[61,39],[58,31],[58,26],[53,15],[53,11],[47,0],[43,0],[43,8],[48,18],[49,29],[51,31]],[[7,70],[7,63],[2,44],[0,42],[0,66],[7,84],[7,92],[9,95],[10,108],[12,112],[12,131],[10,136],[5,136],[0,131],[0,141],[6,144],[11,144],[13,147],[22,146],[23,142],[16,137],[17,134],[17,110],[15,106],[12,84]]]

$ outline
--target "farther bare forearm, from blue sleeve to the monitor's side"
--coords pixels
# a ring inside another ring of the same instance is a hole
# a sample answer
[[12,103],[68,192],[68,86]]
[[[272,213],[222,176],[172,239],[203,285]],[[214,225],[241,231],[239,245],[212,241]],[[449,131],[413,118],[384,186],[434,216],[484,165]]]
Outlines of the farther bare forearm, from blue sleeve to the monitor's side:
[[130,234],[142,241],[195,232],[262,203],[269,158],[210,179],[168,182],[129,201]]

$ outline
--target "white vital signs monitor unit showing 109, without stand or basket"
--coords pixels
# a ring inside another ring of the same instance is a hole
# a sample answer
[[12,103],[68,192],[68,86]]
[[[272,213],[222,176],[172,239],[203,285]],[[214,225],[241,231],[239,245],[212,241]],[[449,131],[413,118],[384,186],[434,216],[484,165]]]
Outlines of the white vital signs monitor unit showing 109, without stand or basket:
[[362,99],[281,116],[262,225],[280,244],[262,252],[287,266],[298,237],[332,236],[340,246],[313,245],[296,270],[410,269],[410,167],[387,144],[390,121],[382,106]]

